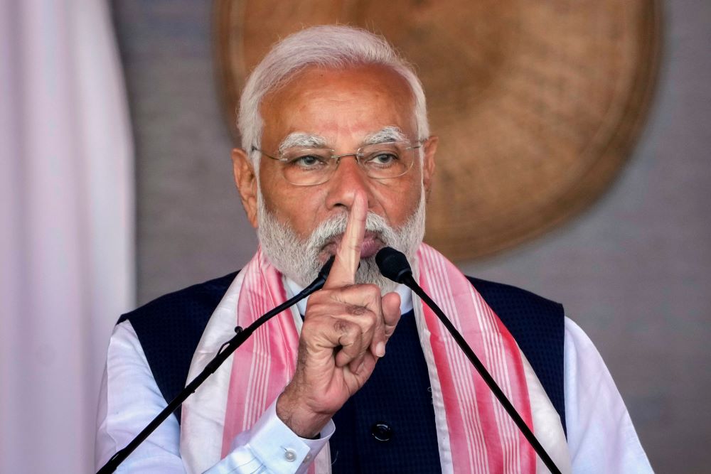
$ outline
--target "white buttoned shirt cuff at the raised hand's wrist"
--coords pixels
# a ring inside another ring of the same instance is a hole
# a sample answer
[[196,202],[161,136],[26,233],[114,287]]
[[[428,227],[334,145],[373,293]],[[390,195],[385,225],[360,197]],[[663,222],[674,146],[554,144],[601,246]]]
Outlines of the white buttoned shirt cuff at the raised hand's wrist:
[[[328,439],[336,431],[333,420],[329,420],[321,430],[319,439],[301,438],[277,416],[277,400],[269,405],[257,420],[248,436],[250,451],[272,473],[296,473],[306,470],[316,458]],[[244,438],[237,436],[232,441],[232,449],[243,446]]]

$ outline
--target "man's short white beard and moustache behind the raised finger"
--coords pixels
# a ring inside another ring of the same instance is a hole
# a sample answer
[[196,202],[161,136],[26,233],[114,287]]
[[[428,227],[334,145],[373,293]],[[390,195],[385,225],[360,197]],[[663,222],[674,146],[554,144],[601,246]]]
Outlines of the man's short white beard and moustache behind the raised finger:
[[[400,250],[412,260],[424,237],[424,189],[420,193],[419,205],[400,229],[393,229],[385,219],[374,212],[368,212],[365,230],[375,232],[378,238],[387,246]],[[264,255],[282,274],[292,279],[296,284],[307,286],[316,279],[325,263],[324,246],[333,237],[346,232],[348,215],[343,212],[331,219],[321,222],[311,236],[300,239],[289,225],[277,220],[274,213],[267,210],[262,198],[262,191],[257,194],[257,237],[262,245]],[[321,257],[321,258],[319,258]],[[380,287],[383,294],[394,291],[397,284],[380,274],[375,256],[360,260],[360,267],[355,273],[355,283],[370,283]]]

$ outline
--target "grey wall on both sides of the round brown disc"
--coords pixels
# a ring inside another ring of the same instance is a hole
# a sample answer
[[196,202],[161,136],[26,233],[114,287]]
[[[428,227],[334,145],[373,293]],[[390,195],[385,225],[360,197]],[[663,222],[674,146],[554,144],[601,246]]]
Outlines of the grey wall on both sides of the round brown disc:
[[[208,2],[115,2],[137,141],[139,302],[247,262],[210,63]],[[608,362],[653,466],[711,443],[711,4],[665,3],[656,102],[629,166],[573,222],[469,274],[562,301]]]

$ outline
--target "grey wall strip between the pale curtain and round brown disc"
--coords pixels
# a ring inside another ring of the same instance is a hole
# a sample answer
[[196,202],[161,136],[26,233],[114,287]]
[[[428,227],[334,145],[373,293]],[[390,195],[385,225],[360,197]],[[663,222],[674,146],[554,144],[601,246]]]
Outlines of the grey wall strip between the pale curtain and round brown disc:
[[136,141],[139,303],[227,274],[257,238],[232,181],[210,2],[115,1]]

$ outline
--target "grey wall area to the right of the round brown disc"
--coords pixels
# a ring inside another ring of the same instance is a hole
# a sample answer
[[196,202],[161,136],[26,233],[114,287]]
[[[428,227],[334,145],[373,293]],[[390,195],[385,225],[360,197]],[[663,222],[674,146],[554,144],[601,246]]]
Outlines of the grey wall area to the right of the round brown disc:
[[574,222],[471,274],[562,301],[594,340],[659,472],[710,472],[711,4],[668,1],[641,141]]

